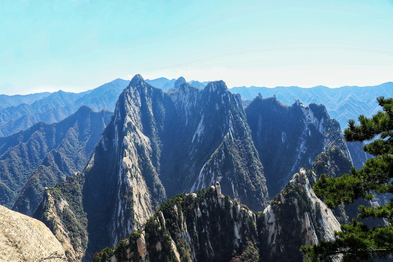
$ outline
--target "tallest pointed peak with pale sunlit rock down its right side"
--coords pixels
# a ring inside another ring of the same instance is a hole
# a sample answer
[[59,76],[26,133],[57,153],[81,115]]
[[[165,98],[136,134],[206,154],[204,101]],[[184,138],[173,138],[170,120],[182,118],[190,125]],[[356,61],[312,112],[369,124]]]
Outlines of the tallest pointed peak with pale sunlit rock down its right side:
[[139,75],[120,95],[83,172],[89,251],[118,243],[143,226],[166,199],[158,159],[165,111],[171,105],[167,94]]

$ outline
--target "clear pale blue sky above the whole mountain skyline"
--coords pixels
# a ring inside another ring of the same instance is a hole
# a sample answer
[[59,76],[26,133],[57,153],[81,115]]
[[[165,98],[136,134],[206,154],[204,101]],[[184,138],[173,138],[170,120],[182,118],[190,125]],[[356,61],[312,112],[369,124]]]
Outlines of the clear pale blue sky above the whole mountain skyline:
[[141,74],[312,87],[393,81],[393,0],[0,1],[0,93]]

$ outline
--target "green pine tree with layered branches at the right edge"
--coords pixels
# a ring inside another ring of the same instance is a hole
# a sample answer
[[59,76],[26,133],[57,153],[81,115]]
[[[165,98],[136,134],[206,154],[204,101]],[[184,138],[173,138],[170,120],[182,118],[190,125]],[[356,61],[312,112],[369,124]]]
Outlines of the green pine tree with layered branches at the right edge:
[[[347,142],[372,141],[363,150],[374,156],[360,170],[351,169],[351,174],[341,177],[321,175],[314,185],[316,195],[329,208],[341,203],[353,203],[358,198],[373,199],[376,194],[393,194],[393,98],[377,98],[383,111],[367,118],[360,115],[359,125],[348,120],[344,131]],[[359,218],[383,218],[384,227],[369,228],[363,223],[342,225],[336,232],[336,240],[322,241],[318,245],[302,246],[306,261],[334,261],[342,256],[343,261],[372,261],[393,254],[393,198],[386,205],[376,208],[359,206]]]

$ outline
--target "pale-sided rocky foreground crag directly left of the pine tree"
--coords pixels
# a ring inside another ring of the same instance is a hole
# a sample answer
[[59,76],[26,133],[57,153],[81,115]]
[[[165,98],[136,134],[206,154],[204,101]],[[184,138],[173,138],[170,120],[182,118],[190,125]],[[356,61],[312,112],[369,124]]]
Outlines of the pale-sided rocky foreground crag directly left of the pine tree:
[[301,168],[263,211],[264,261],[303,261],[301,245],[333,240],[334,231],[341,230],[332,211],[312,190],[309,179],[315,177],[313,171]]

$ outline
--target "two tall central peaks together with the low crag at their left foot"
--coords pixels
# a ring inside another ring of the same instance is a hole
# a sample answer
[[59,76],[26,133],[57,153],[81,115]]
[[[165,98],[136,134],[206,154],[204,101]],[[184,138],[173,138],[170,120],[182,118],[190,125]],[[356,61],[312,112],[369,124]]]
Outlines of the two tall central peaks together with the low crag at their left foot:
[[84,171],[46,190],[35,217],[68,243],[68,255],[92,258],[141,229],[167,196],[215,181],[253,210],[267,206],[240,97],[223,81],[198,90],[182,80],[165,93],[136,75]]

